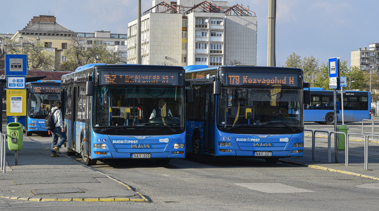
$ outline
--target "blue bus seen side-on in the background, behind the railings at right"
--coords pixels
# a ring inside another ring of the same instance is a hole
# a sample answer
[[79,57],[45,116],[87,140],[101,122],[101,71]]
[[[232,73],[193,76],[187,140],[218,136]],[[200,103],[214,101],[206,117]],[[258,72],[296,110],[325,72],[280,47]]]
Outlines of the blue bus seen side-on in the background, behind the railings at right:
[[[311,87],[311,103],[304,108],[304,121],[334,124],[333,90]],[[342,122],[341,92],[337,93],[337,117]],[[343,94],[344,122],[360,122],[371,119],[371,93],[345,91]]]

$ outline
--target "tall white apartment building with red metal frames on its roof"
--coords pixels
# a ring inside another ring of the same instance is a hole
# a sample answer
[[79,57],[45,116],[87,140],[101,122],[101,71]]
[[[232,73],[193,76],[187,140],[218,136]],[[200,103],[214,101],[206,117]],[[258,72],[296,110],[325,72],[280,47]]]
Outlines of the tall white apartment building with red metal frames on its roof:
[[[141,17],[141,64],[257,63],[257,17],[240,5],[199,0],[157,3]],[[128,23],[128,63],[137,63],[137,19]]]

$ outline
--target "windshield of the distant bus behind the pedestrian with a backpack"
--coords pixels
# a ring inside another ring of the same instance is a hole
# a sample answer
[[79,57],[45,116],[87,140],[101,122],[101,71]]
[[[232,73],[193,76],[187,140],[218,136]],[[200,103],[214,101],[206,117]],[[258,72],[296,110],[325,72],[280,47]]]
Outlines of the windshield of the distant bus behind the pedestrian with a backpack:
[[59,99],[59,93],[30,93],[29,117],[44,119],[53,108],[54,102]]

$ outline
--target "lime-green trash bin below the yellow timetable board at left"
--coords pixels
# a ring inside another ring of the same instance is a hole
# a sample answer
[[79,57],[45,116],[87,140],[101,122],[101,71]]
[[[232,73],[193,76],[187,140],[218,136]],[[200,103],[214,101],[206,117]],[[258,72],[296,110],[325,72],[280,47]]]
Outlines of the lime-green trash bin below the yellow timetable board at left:
[[11,122],[7,125],[8,149],[18,151],[22,149],[23,130],[22,124]]

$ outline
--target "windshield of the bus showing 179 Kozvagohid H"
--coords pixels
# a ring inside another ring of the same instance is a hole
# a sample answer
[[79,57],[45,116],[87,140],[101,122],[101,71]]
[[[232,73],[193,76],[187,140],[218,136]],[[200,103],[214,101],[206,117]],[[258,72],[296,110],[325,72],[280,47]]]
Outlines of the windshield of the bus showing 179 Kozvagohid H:
[[240,134],[294,134],[303,131],[302,90],[224,87],[219,97],[218,128]]

